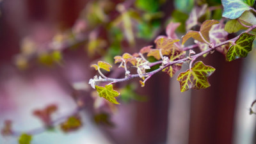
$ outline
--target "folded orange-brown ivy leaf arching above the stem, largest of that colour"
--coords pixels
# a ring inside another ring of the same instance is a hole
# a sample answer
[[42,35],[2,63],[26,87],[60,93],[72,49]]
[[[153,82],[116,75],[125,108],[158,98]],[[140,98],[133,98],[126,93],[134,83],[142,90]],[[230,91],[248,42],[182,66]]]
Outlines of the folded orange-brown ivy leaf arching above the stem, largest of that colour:
[[195,40],[198,40],[199,42],[204,42],[202,37],[200,36],[200,33],[204,37],[204,39],[209,42],[209,31],[214,24],[218,24],[218,20],[205,20],[200,28],[200,31],[188,31],[186,35],[182,37],[182,45],[189,39],[189,38],[194,38]]

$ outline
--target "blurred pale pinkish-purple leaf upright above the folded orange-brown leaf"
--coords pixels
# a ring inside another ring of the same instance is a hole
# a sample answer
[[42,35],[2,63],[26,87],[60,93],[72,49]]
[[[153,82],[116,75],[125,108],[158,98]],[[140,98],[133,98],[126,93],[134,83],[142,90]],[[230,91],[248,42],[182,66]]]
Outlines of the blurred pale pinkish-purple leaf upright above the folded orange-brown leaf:
[[202,7],[195,6],[191,11],[188,20],[186,21],[186,30],[188,31],[193,26],[196,26],[197,20],[205,14],[207,4],[204,4]]

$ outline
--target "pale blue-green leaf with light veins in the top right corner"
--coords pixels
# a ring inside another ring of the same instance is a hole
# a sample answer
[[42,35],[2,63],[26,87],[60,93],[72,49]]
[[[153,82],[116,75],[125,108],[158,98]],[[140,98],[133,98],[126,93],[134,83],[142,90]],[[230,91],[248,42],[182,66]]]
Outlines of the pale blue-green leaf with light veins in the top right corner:
[[237,19],[246,10],[251,10],[254,1],[252,0],[222,0],[224,11],[222,17]]

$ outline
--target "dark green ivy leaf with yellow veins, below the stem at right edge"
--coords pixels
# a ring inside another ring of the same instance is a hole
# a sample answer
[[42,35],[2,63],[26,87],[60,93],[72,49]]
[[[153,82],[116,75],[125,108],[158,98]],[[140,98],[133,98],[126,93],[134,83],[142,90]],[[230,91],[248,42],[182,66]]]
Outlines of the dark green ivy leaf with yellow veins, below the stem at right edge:
[[249,33],[243,33],[239,36],[234,44],[228,49],[226,59],[227,61],[233,61],[237,58],[244,58],[248,52],[252,51],[252,43],[255,35]]

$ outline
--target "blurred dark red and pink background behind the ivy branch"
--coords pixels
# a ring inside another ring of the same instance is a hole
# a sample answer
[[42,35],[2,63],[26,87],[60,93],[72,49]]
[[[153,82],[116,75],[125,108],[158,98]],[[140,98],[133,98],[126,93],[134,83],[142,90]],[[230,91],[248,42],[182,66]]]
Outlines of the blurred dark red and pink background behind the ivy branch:
[[[204,6],[196,21],[221,19],[220,0],[1,0],[0,143],[18,143],[22,133],[36,144],[256,143],[254,46],[232,62],[220,52],[198,58],[216,68],[205,90],[180,93],[177,74],[160,72],[143,88],[138,79],[114,84],[121,104],[113,105],[88,84],[97,74],[90,65],[154,45],[170,21],[180,22],[181,38],[191,11]],[[115,65],[106,75],[124,77],[124,70]],[[51,116],[36,114],[51,105]],[[67,130],[72,115],[81,125]]]

